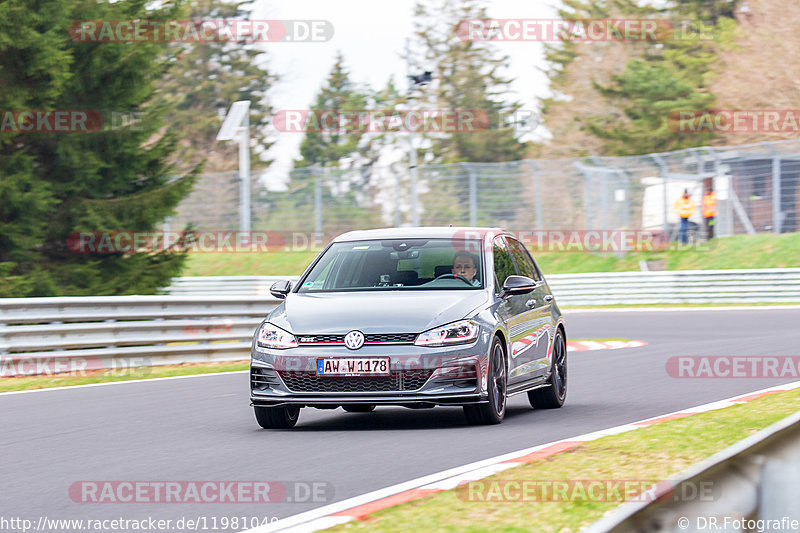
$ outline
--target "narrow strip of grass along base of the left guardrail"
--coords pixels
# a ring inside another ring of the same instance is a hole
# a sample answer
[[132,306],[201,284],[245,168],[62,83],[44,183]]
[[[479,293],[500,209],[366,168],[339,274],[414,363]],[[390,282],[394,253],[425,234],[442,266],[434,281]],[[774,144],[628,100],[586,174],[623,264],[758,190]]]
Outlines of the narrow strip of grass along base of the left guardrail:
[[117,370],[86,370],[81,375],[56,374],[47,376],[13,376],[0,378],[0,392],[12,392],[32,389],[50,389],[53,387],[69,387],[71,385],[89,385],[92,383],[108,383],[111,381],[132,381],[135,379],[166,378],[171,376],[189,376],[194,374],[211,374],[214,372],[235,372],[250,368],[249,361],[231,361],[220,363],[197,363],[134,367]]

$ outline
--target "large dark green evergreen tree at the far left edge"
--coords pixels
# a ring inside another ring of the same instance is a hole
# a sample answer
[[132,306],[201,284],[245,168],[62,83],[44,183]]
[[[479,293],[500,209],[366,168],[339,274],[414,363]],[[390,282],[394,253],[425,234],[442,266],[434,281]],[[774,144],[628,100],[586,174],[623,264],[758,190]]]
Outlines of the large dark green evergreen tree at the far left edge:
[[176,138],[153,105],[166,45],[83,42],[75,20],[167,20],[173,2],[0,3],[0,109],[139,113],[84,133],[0,131],[0,296],[134,294],[177,275],[181,253],[76,254],[76,231],[148,231],[191,189],[168,164]]

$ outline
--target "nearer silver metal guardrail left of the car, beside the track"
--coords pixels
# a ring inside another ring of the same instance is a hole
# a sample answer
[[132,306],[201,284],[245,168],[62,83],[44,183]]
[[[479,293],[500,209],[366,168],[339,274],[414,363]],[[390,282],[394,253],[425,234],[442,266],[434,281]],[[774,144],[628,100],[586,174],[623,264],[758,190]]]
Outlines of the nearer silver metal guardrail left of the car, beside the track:
[[255,328],[277,302],[235,295],[0,299],[0,376],[247,359]]

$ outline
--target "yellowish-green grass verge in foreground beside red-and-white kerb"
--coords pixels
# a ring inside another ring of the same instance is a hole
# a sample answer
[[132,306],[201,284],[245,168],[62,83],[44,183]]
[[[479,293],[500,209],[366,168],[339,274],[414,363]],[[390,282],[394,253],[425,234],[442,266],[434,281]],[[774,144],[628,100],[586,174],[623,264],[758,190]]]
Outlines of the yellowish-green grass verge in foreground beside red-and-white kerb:
[[[603,437],[569,451],[482,480],[662,480],[800,409],[800,390],[747,404]],[[333,531],[568,532],[596,521],[618,502],[467,501],[464,490],[445,491],[378,511]]]

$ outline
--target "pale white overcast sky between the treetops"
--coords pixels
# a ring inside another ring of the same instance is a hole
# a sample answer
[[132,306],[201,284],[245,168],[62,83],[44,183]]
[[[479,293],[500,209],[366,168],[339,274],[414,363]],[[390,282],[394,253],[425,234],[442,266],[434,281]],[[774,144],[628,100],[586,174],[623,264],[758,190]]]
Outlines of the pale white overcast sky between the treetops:
[[[552,19],[557,0],[491,0],[492,18]],[[405,87],[406,67],[401,58],[406,37],[412,34],[413,0],[256,0],[256,20],[315,19],[333,24],[334,36],[325,43],[267,43],[270,67],[280,76],[272,93],[279,109],[308,109],[322,86],[337,50],[344,55],[353,81],[382,88],[394,76]],[[536,98],[548,94],[543,46],[537,42],[497,43],[509,56],[508,76],[514,78],[512,99],[525,109],[536,109]],[[285,181],[299,156],[300,133],[281,133],[269,155],[275,160],[269,181]]]

